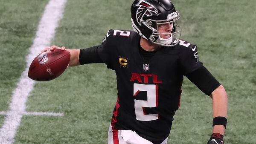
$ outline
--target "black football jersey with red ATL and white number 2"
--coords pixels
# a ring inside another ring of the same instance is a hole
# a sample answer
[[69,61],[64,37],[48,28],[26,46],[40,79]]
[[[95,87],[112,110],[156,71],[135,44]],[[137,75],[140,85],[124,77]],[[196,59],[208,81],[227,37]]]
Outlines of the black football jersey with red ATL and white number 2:
[[97,49],[99,58],[116,72],[118,93],[112,127],[133,130],[160,144],[168,137],[180,106],[183,75],[202,66],[198,49],[180,40],[145,60],[139,52],[140,35],[127,30],[109,30]]

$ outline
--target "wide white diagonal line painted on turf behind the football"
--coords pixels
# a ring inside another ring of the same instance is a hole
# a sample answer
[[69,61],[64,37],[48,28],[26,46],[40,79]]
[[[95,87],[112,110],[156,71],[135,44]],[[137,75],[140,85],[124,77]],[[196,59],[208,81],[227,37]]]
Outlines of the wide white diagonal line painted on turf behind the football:
[[[16,130],[20,125],[23,114],[26,113],[26,101],[29,93],[33,90],[35,81],[28,78],[28,69],[32,60],[38,53],[49,46],[55,36],[55,29],[61,20],[67,0],[49,0],[44,9],[44,14],[40,20],[35,40],[30,47],[30,53],[26,57],[26,69],[22,72],[17,88],[13,91],[9,110],[5,113],[6,117],[0,129],[0,144],[12,144]],[[36,113],[35,113],[36,114]]]

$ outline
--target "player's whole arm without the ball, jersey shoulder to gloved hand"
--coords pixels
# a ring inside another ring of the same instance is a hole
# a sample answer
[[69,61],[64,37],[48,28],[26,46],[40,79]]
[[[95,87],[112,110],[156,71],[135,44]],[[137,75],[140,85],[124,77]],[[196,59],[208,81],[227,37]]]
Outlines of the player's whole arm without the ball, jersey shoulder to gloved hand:
[[191,44],[187,48],[183,49],[182,55],[180,55],[184,74],[202,92],[212,98],[213,133],[208,144],[223,144],[223,135],[227,124],[227,94],[224,87],[199,61],[196,46]]

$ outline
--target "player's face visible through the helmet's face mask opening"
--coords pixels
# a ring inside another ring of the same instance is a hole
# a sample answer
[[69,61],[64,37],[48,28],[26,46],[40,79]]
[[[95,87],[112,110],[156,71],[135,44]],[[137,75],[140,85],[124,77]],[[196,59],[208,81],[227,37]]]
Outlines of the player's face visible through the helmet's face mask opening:
[[[171,33],[173,23],[165,23],[165,24],[158,24],[158,32],[159,33]],[[171,37],[171,34],[160,34],[161,38],[168,39]]]

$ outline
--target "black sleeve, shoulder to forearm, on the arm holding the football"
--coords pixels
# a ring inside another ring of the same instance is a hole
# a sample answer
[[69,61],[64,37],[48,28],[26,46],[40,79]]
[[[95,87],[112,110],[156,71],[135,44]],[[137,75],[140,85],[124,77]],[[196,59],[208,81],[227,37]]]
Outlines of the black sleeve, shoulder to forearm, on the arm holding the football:
[[79,55],[80,64],[106,63],[109,69],[113,68],[113,30],[109,30],[99,46],[81,49]]

